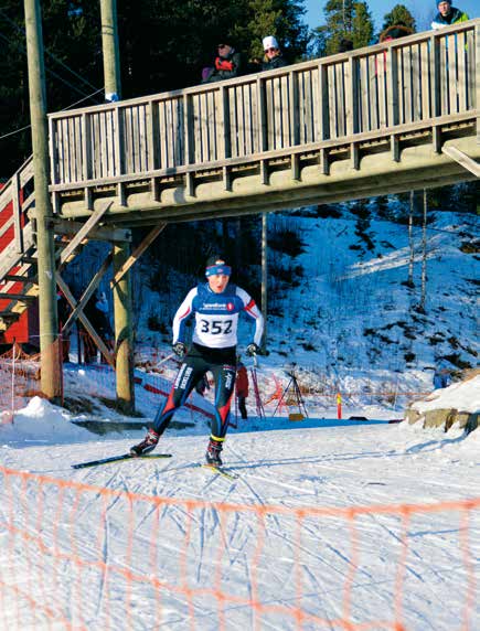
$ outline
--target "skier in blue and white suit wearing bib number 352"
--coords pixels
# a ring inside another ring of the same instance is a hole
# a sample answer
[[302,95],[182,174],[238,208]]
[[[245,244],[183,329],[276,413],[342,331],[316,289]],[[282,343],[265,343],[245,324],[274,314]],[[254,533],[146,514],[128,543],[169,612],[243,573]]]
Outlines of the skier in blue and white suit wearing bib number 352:
[[[175,410],[185,403],[195,384],[210,371],[215,381],[215,415],[206,450],[206,462],[221,467],[221,451],[228,428],[230,406],[235,386],[238,316],[243,311],[255,321],[254,341],[247,355],[259,350],[264,318],[248,293],[230,284],[232,268],[220,256],[206,263],[206,282],[191,289],[173,318],[173,351],[183,362],[163,406],[146,438],[130,449],[132,456],[152,451]],[[185,345],[185,323],[195,317],[190,349]]]

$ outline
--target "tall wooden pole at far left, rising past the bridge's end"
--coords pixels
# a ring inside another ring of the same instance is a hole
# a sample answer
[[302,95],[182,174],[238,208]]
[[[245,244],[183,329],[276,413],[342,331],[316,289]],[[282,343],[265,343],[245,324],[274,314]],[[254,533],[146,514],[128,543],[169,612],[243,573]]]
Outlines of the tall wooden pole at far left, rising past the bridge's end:
[[36,211],[41,389],[49,399],[55,400],[61,396],[61,366],[54,343],[58,334],[58,320],[54,232],[50,225],[53,211],[49,194],[50,161],[42,18],[39,0],[24,0],[24,8]]

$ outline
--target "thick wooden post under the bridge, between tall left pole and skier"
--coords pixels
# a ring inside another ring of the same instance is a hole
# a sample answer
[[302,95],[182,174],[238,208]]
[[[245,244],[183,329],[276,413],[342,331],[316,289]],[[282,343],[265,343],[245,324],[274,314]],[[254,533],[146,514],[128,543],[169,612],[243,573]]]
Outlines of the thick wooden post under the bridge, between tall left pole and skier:
[[[114,276],[130,256],[130,245],[115,244]],[[135,410],[134,335],[131,328],[130,274],[126,274],[114,287],[115,352],[117,356],[117,403],[126,414]]]

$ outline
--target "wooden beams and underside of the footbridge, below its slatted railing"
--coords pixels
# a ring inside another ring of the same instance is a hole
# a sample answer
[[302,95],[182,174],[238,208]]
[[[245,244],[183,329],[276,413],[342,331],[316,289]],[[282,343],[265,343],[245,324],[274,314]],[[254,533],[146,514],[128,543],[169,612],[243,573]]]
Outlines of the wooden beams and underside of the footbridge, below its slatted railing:
[[135,226],[256,214],[476,179],[442,148],[479,160],[476,120],[331,150],[264,154],[228,167],[122,177],[67,191],[52,186],[52,192],[63,218],[87,217],[111,204],[104,223]]

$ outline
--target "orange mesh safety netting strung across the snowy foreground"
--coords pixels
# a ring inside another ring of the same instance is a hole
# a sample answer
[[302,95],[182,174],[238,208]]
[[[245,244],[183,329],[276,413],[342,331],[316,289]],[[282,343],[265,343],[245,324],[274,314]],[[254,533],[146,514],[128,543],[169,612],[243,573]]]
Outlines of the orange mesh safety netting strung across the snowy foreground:
[[[458,544],[449,559],[459,569],[455,628],[472,629],[470,518],[478,517],[480,498],[344,509],[230,504],[3,467],[0,493],[2,629],[406,630],[405,602],[435,563],[416,555],[418,527],[438,528],[446,517]],[[365,528],[381,521],[383,538],[372,552]],[[369,565],[386,553],[391,565]],[[385,584],[391,598],[366,608],[363,591],[373,601]]]

